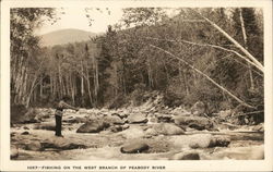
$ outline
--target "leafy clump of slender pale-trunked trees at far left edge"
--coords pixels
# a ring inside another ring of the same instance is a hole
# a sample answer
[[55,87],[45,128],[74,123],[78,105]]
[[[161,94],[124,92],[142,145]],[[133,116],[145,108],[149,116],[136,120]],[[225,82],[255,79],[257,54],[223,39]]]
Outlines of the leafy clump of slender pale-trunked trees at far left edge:
[[34,29],[40,26],[45,17],[54,19],[55,13],[54,9],[47,8],[16,8],[11,9],[10,14],[11,103],[28,106],[27,95],[32,93],[27,85],[32,79],[28,63],[33,59],[32,52],[39,49],[39,39],[34,35]]

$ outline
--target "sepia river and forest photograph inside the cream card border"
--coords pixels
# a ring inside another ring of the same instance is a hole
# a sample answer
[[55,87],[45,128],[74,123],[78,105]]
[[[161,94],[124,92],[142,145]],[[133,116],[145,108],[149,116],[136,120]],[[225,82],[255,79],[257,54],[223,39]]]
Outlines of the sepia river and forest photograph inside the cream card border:
[[9,9],[9,160],[265,160],[264,8],[110,3]]

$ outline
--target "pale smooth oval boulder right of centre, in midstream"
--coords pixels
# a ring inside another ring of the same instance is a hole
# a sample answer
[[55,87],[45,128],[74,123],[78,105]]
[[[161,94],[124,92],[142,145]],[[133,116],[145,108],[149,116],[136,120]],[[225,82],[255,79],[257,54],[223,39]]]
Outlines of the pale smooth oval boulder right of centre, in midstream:
[[155,124],[153,128],[158,133],[163,135],[181,135],[185,134],[183,130],[181,127],[178,127],[175,124],[170,123],[159,123]]

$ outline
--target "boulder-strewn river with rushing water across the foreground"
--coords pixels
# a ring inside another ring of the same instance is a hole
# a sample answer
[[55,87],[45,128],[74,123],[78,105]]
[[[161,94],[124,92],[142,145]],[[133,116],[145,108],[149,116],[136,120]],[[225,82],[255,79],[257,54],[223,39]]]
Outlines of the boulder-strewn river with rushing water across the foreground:
[[230,125],[177,109],[33,109],[11,127],[12,160],[263,159],[263,124]]

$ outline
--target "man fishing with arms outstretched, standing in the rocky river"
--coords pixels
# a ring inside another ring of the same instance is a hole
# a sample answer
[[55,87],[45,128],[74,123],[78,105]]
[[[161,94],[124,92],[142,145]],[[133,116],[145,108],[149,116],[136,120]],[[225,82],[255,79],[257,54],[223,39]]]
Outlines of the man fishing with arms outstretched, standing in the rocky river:
[[61,135],[61,120],[62,120],[62,114],[63,114],[63,109],[73,109],[75,111],[78,111],[78,108],[74,108],[70,105],[68,105],[66,101],[69,100],[69,97],[64,96],[62,99],[60,99],[60,101],[57,105],[56,108],[56,113],[55,113],[55,120],[56,120],[56,133],[55,135],[57,137],[63,137]]

